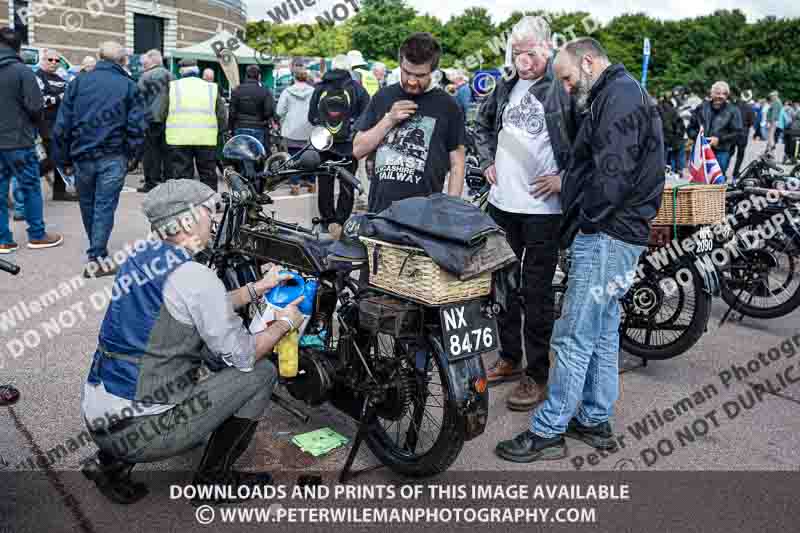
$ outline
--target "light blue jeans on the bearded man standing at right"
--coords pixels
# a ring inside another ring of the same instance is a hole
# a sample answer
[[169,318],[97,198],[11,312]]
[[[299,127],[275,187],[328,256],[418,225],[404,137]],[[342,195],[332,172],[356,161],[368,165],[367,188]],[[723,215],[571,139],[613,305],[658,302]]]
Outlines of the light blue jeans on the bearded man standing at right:
[[619,300],[644,249],[604,233],[575,237],[563,310],[550,340],[555,364],[547,399],[531,416],[537,435],[563,434],[576,411],[585,426],[611,418],[619,393]]

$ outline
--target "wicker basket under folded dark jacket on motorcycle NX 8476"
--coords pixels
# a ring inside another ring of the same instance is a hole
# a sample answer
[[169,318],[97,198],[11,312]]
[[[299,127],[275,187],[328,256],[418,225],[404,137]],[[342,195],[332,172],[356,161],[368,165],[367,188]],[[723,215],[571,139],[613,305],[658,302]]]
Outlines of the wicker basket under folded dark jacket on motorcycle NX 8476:
[[486,296],[492,290],[491,272],[460,281],[434,263],[421,248],[360,239],[367,247],[370,285],[392,294],[429,305],[444,305]]

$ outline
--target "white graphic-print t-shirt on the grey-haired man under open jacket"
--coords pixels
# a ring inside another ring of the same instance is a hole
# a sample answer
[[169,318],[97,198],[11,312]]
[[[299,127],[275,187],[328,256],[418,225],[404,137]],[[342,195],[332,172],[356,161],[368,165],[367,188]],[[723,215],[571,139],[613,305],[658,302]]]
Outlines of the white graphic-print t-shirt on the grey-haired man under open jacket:
[[[530,92],[534,80],[519,80],[503,110],[503,129],[497,136],[497,185],[489,202],[509,213],[556,215],[561,213],[558,194],[540,200],[531,195],[533,179],[558,174],[544,106]],[[555,82],[554,82],[555,83]]]

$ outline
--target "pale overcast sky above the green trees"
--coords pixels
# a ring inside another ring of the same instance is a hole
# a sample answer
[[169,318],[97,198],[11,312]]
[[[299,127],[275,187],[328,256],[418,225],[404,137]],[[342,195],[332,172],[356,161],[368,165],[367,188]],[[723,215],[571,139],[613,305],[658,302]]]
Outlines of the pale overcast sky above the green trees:
[[[267,10],[281,6],[285,0],[246,0],[251,20],[270,20]],[[297,0],[288,0],[297,1]],[[293,17],[294,21],[305,22],[313,20],[314,15],[330,9],[337,3],[345,0],[318,0],[319,4],[305,8],[304,15]],[[299,0],[304,5],[303,0]],[[309,2],[310,3],[310,2]],[[451,16],[462,13],[469,7],[486,7],[493,16],[495,23],[505,20],[515,10],[533,10],[537,8],[552,8],[558,6],[559,10],[579,11],[586,10],[603,22],[607,22],[622,13],[640,12],[660,18],[676,19],[694,17],[713,13],[717,9],[740,9],[748,20],[753,21],[767,15],[777,17],[800,17],[800,1],[798,0],[613,0],[601,2],[587,2],[586,0],[409,0],[420,13],[430,13],[442,21],[447,21]]]

